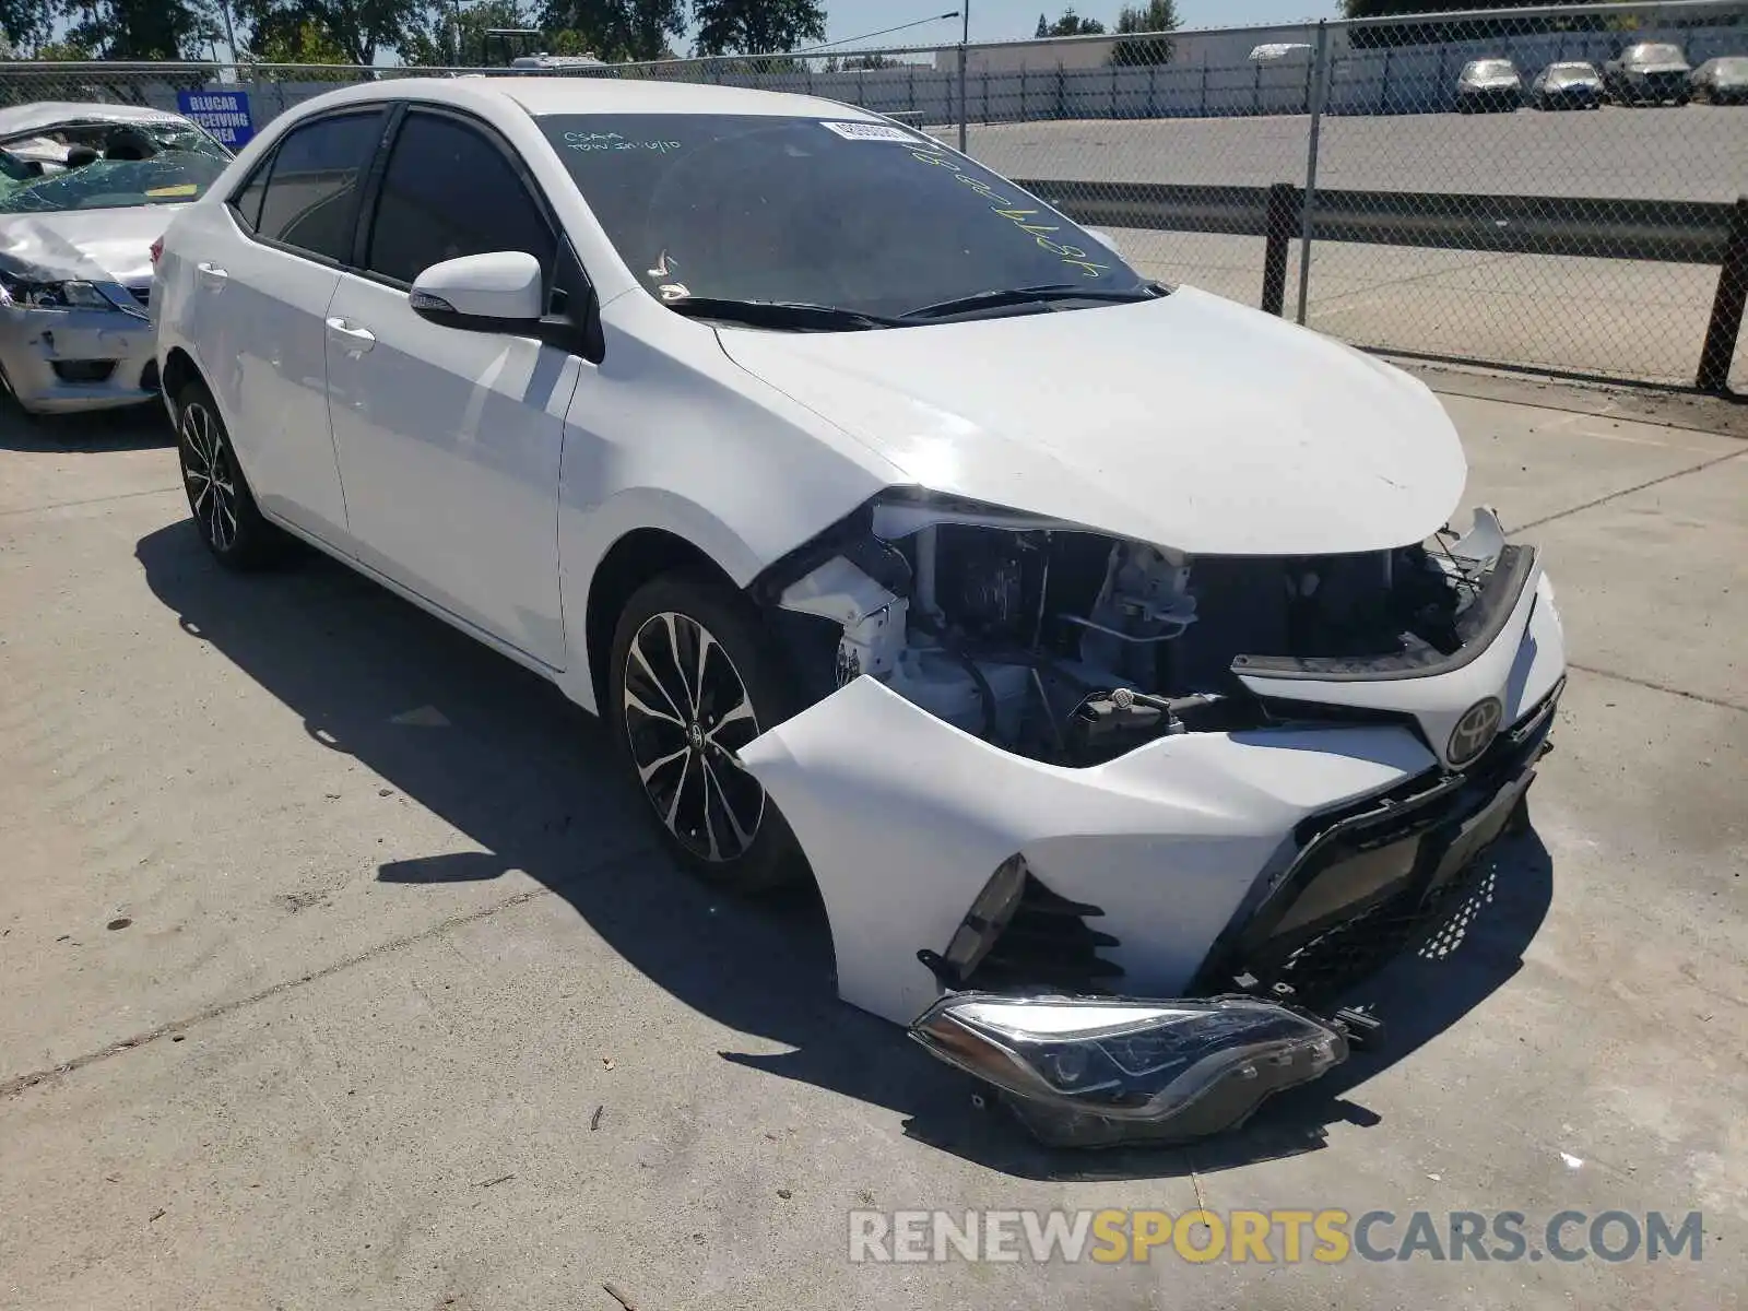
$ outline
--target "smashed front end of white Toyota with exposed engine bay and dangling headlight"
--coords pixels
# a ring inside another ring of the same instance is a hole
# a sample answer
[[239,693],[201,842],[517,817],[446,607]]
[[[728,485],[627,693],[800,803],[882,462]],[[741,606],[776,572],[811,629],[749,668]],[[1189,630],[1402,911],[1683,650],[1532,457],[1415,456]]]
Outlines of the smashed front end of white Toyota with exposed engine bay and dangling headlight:
[[895,489],[753,586],[844,1000],[1044,1141],[1185,1141],[1376,1038],[1339,995],[1521,816],[1564,652],[1491,510],[1217,556]]

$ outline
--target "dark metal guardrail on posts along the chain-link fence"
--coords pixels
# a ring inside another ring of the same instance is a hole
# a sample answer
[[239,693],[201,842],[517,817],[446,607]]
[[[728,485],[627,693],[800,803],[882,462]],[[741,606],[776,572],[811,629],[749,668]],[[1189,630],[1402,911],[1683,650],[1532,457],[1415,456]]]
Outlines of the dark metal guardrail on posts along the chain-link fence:
[[[1159,182],[1016,178],[1075,222],[1157,232],[1217,232],[1267,241],[1259,304],[1285,313],[1287,259],[1295,239],[1421,250],[1717,264],[1718,290],[1696,386],[1727,390],[1748,304],[1748,196],[1734,205],[1566,196],[1470,196],[1405,191],[1194,187]],[[1306,222],[1309,218],[1309,222]]]

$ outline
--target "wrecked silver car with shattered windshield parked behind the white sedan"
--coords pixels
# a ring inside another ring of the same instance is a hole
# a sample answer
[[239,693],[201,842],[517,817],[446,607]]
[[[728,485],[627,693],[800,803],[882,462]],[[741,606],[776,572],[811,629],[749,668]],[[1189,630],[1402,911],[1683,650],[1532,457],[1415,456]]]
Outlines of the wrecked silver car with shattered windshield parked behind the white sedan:
[[164,110],[0,110],[0,395],[35,414],[156,399],[152,243],[229,161]]

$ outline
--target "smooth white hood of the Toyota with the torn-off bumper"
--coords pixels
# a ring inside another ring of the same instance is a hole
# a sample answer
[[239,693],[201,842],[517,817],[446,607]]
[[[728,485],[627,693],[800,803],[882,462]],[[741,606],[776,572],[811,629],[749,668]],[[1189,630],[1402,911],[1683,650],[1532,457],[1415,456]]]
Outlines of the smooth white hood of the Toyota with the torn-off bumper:
[[1467,477],[1425,385],[1192,288],[916,329],[718,336],[919,486],[1190,554],[1407,545],[1449,521]]

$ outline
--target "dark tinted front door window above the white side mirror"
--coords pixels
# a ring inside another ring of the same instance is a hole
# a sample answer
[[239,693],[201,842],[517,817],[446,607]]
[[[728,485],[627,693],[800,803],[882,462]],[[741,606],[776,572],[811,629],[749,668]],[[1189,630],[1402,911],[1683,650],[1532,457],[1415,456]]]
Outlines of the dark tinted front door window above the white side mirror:
[[447,115],[409,114],[383,173],[367,267],[411,283],[432,264],[498,250],[533,255],[551,281],[558,239],[496,142]]

